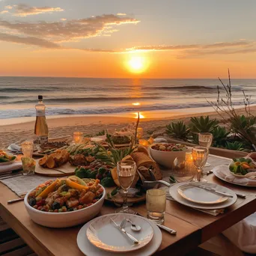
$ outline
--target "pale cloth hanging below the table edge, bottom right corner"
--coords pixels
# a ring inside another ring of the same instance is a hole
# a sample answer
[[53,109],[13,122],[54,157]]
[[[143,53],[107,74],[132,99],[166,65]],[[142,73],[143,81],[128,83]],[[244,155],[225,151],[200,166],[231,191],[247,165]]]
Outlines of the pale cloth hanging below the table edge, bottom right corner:
[[231,240],[240,250],[250,254],[256,253],[256,213],[248,216],[228,228],[222,234]]

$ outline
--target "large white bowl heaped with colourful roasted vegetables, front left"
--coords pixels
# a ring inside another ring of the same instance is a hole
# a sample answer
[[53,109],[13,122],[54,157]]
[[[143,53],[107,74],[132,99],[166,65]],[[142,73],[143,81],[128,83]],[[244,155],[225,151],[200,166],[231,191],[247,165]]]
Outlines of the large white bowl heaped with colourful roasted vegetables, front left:
[[93,219],[100,212],[106,191],[100,180],[76,176],[48,180],[25,195],[30,218],[49,228],[67,228]]

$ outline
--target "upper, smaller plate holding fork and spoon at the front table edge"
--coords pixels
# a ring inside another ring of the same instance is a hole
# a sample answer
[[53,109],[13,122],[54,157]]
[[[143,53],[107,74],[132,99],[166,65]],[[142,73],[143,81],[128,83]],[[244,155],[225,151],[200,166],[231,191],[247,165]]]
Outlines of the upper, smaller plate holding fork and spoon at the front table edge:
[[[124,214],[115,214],[111,217],[118,225],[126,216]],[[153,228],[146,219],[141,219],[136,215],[130,215],[129,219],[136,225],[141,226],[141,231],[132,231],[127,222],[124,228],[129,234],[138,240],[138,244],[133,244],[126,234],[115,226],[109,216],[100,216],[94,219],[86,231],[88,240],[100,249],[109,252],[132,252],[147,246],[147,243],[153,238]],[[111,236],[109,236],[111,234]]]

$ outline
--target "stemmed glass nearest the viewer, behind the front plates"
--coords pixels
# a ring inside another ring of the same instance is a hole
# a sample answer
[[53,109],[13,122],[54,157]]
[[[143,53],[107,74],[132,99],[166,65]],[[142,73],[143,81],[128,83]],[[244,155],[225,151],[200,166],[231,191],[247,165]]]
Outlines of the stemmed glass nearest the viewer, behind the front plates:
[[118,162],[118,180],[121,188],[124,190],[124,204],[123,209],[116,211],[116,213],[135,213],[135,211],[129,209],[127,205],[127,193],[134,180],[135,171],[136,164],[134,161],[127,160]]

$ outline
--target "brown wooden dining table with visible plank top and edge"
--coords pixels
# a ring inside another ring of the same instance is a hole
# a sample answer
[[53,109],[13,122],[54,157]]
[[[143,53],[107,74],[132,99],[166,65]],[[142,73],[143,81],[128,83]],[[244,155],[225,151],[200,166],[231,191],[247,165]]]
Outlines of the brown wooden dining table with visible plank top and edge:
[[[214,157],[208,162],[215,161]],[[156,255],[184,255],[256,211],[256,188],[225,183],[213,174],[207,176],[207,180],[243,192],[247,195],[246,199],[238,198],[233,206],[219,216],[210,216],[175,201],[167,201],[165,225],[175,229],[177,235],[171,236],[162,231],[162,245]],[[13,198],[17,196],[0,183],[0,216],[37,255],[82,255],[76,245],[76,236],[82,225],[74,228],[44,228],[29,219],[23,202],[7,204]],[[138,204],[132,209],[146,216],[144,204]],[[100,214],[113,212],[115,207],[105,204]]]

